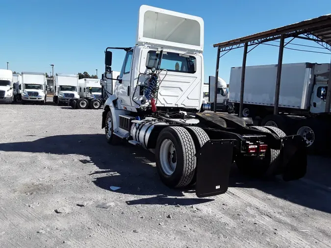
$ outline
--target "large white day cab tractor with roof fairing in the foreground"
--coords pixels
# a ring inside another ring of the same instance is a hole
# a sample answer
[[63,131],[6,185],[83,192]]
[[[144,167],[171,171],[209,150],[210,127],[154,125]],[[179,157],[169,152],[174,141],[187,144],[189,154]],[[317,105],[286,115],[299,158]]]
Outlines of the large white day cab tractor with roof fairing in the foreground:
[[[135,46],[107,48],[105,79],[115,83],[102,112],[111,145],[128,142],[155,154],[169,187],[195,186],[198,197],[228,189],[233,162],[255,176],[306,174],[306,147],[299,135],[228,113],[199,112],[203,103],[204,21],[142,5]],[[121,73],[111,78],[112,51],[126,51]],[[117,80],[116,80],[117,79]]]

